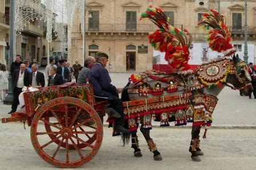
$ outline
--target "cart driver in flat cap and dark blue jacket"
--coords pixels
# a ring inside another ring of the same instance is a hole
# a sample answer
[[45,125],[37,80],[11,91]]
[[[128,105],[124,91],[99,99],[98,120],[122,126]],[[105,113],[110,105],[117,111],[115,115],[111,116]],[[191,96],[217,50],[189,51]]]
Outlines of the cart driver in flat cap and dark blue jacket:
[[110,103],[109,107],[113,108],[120,115],[119,118],[115,118],[113,135],[119,134],[119,132],[123,134],[129,133],[129,130],[123,127],[125,125],[123,105],[122,100],[118,96],[118,93],[122,93],[122,88],[116,88],[114,85],[111,85],[109,72],[105,68],[107,61],[109,61],[109,56],[106,53],[98,52],[95,58],[97,63],[89,72],[89,80],[93,85],[95,98],[107,100]]

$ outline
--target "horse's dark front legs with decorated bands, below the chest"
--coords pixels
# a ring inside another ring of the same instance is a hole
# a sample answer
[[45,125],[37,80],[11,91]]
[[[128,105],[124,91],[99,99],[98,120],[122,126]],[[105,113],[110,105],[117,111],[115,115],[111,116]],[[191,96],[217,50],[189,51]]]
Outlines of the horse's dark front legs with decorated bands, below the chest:
[[189,151],[191,152],[191,159],[193,161],[201,161],[200,157],[198,156],[198,154],[201,154],[202,152],[201,149],[199,148],[199,142],[198,142],[200,128],[201,126],[192,126],[192,131],[191,131],[192,139],[190,142]]

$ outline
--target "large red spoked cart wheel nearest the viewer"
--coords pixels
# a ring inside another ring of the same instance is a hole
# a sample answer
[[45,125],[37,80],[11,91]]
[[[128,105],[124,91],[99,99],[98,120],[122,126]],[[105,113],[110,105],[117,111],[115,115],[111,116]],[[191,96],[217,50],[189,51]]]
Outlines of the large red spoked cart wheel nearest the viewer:
[[[79,119],[83,114],[87,118]],[[50,130],[43,124],[49,125]],[[73,97],[60,97],[45,103],[35,113],[30,136],[43,160],[59,168],[74,168],[97,154],[103,128],[101,119],[89,104]],[[63,144],[65,148],[61,148]]]

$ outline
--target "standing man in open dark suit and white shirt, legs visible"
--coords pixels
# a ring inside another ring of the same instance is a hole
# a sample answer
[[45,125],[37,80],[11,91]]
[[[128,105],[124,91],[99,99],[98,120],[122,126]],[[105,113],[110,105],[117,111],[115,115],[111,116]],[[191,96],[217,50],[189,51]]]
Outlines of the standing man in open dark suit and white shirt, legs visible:
[[11,105],[10,113],[14,113],[17,110],[19,104],[19,94],[22,92],[24,86],[29,87],[31,85],[30,73],[25,70],[26,65],[21,64],[19,69],[16,69],[13,73],[13,103]]

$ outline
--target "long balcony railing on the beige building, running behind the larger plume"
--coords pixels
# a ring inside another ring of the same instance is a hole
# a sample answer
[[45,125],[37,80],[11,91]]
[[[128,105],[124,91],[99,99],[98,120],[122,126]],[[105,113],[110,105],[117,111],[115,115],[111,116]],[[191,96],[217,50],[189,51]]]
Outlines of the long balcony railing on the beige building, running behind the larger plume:
[[[182,28],[182,25],[175,25]],[[151,32],[158,29],[154,24],[101,24],[86,23],[86,32]]]

